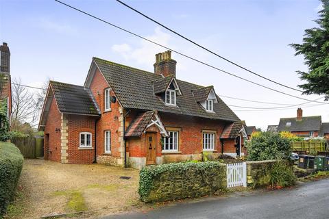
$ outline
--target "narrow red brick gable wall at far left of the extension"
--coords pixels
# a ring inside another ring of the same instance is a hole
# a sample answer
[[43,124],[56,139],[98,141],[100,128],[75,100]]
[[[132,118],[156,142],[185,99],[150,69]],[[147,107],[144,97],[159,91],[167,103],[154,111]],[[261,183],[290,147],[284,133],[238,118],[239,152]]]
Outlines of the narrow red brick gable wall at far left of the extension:
[[[60,162],[60,131],[56,133],[56,129],[60,129],[61,114],[58,110],[55,98],[51,101],[49,114],[45,126],[45,134],[49,133],[49,160]],[[45,141],[46,146],[46,141]],[[45,149],[45,148],[44,148]],[[47,157],[47,150],[45,150]]]

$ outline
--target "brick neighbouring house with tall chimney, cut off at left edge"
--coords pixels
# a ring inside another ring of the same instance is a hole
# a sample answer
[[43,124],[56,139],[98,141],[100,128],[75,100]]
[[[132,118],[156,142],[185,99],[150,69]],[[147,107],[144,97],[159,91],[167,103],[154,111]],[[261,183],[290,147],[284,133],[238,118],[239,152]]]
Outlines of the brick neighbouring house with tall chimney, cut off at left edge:
[[[7,103],[7,116],[10,121],[12,113],[12,86],[10,79],[10,50],[3,42],[0,46],[0,103]],[[0,120],[1,125],[1,120]]]

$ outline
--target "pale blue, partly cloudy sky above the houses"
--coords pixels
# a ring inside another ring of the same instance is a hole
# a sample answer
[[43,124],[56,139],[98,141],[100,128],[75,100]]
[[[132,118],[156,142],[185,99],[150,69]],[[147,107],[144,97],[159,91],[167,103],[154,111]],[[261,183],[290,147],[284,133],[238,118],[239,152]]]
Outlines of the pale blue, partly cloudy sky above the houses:
[[[166,47],[212,64],[282,92],[301,95],[256,77],[215,55],[175,36],[114,0],[62,0],[90,14],[119,25]],[[128,1],[132,7],[254,72],[297,88],[304,83],[296,70],[307,70],[302,56],[295,56],[291,43],[301,43],[304,29],[315,27],[318,0],[221,0],[221,1]],[[10,73],[27,86],[42,86],[47,79],[83,85],[92,57],[154,72],[155,54],[166,49],[143,41],[110,25],[52,0],[0,0],[0,42],[8,42]],[[215,92],[247,125],[266,129],[280,118],[295,117],[297,107],[304,116],[321,115],[329,122],[329,105],[305,103],[242,81],[198,64],[176,53],[176,77],[202,86],[213,85]],[[36,92],[29,89],[30,92]],[[243,107],[280,107],[239,99],[296,105],[287,109],[252,110]],[[316,105],[316,106],[314,106]],[[247,110],[247,111],[246,111]]]

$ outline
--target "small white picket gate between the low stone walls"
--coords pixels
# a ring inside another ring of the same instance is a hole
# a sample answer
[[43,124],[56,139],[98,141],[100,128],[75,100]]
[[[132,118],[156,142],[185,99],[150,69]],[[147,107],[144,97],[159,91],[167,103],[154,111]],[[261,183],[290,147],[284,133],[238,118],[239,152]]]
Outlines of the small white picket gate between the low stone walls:
[[226,179],[228,188],[241,186],[247,187],[247,164],[226,164]]

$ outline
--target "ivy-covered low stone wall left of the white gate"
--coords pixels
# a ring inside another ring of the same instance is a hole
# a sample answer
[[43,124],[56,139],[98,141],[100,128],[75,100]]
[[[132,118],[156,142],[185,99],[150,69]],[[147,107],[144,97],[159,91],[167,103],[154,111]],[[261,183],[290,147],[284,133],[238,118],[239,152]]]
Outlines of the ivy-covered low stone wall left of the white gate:
[[219,162],[147,166],[140,172],[141,201],[169,201],[214,194],[226,189],[226,165]]

